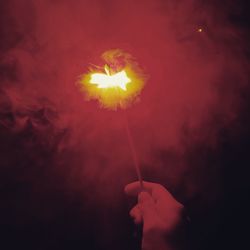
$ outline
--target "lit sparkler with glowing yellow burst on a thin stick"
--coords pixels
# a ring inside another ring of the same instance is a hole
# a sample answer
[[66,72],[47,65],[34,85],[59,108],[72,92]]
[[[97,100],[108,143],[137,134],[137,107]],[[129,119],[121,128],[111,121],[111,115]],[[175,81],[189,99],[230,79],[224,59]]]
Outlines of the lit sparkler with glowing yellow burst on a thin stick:
[[125,109],[138,99],[146,77],[134,58],[122,50],[109,50],[103,53],[102,59],[105,65],[92,65],[89,72],[81,76],[80,85],[88,100],[95,99],[101,107],[124,111],[129,147],[138,180],[143,188],[141,169]]

